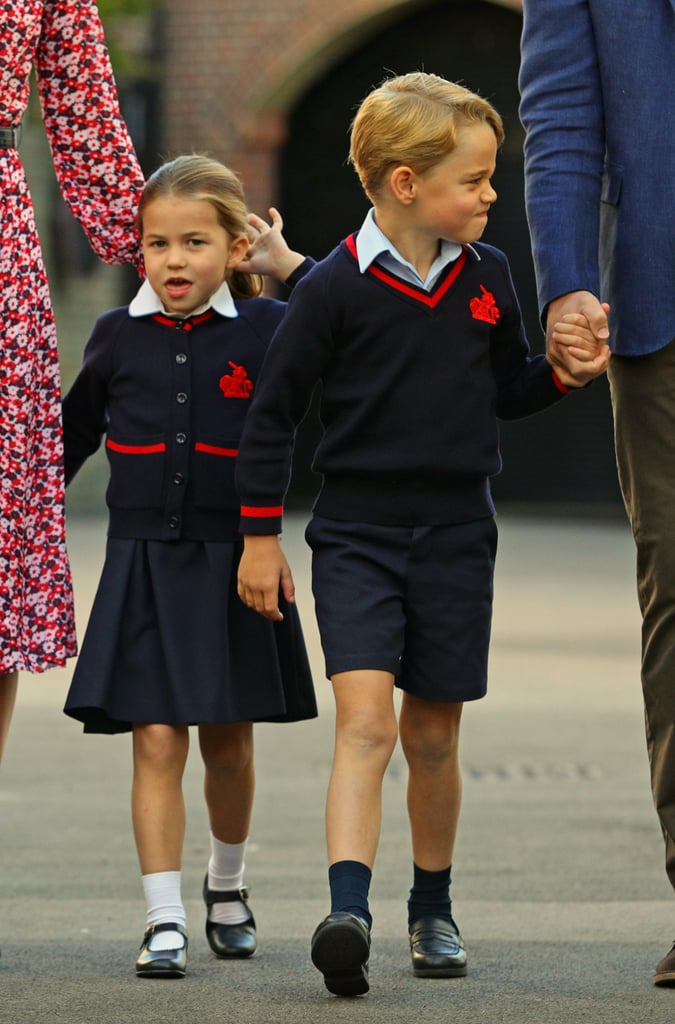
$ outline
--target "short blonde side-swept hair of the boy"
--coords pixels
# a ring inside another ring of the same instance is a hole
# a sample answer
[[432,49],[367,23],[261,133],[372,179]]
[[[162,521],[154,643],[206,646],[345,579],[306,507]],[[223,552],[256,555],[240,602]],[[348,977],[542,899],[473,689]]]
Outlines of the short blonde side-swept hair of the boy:
[[489,125],[501,145],[499,114],[464,86],[421,71],[385,79],[366,96],[351,123],[349,161],[368,198],[378,198],[390,168],[428,171],[453,152],[458,130],[468,124]]

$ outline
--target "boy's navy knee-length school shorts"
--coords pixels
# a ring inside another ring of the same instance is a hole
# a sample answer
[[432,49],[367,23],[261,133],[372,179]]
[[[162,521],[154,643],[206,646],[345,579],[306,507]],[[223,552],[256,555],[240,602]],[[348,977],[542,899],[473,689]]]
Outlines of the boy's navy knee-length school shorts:
[[497,525],[381,526],[314,516],[305,532],[326,675],[395,676],[427,700],[488,688]]

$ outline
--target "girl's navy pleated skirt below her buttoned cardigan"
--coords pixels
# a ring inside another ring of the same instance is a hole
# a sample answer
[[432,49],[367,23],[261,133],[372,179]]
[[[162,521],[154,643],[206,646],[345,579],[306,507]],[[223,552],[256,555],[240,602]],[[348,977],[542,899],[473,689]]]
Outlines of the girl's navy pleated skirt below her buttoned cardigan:
[[297,722],[317,716],[295,605],[282,623],[237,594],[241,544],[109,538],[65,712],[85,732],[134,722]]

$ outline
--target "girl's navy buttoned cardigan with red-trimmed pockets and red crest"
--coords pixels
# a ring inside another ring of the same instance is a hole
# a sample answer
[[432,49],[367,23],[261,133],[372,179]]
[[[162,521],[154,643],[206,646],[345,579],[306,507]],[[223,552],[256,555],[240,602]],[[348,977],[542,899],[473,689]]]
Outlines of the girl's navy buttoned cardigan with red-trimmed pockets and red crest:
[[235,318],[213,310],[132,317],[124,307],[96,322],[64,399],[66,479],[106,434],[111,537],[240,539],[239,441],[287,306],[265,298],[236,305]]

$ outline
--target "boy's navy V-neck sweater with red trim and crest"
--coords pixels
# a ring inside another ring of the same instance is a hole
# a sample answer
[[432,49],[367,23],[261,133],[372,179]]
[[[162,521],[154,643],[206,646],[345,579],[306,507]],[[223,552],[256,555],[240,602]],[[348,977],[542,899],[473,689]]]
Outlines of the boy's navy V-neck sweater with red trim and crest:
[[465,248],[426,292],[377,264],[362,274],[354,240],[297,286],[267,352],[237,461],[244,534],[281,530],[294,433],[318,382],[314,512],[385,525],[492,515],[498,417],[567,390],[530,356],[502,252]]

